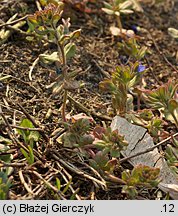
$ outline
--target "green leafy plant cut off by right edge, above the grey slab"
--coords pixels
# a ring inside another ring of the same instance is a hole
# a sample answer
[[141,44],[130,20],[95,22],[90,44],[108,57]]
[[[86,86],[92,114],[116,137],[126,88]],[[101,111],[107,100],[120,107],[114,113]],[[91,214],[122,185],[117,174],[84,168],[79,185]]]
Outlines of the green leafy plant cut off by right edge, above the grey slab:
[[178,128],[178,83],[169,81],[159,88],[146,91],[147,103],[156,110],[164,114],[165,118],[176,125]]

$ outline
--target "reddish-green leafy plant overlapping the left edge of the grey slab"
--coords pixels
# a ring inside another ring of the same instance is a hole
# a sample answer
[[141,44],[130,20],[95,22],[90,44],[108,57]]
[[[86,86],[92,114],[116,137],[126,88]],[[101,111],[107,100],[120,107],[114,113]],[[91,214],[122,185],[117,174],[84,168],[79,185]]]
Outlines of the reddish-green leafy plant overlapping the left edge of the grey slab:
[[111,131],[111,128],[97,126],[93,129],[95,140],[93,147],[98,150],[89,160],[90,165],[101,174],[112,173],[118,164],[121,151],[126,150],[128,143],[118,130]]

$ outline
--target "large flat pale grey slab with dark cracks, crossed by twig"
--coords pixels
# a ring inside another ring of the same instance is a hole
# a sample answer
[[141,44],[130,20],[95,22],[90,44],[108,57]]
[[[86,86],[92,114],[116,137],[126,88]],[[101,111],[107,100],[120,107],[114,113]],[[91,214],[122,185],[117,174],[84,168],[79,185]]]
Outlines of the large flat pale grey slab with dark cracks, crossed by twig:
[[[153,147],[155,145],[153,142],[153,138],[147,133],[147,130],[145,128],[131,124],[126,119],[120,116],[114,117],[111,123],[111,129],[112,130],[118,129],[119,133],[121,135],[124,135],[125,140],[129,144],[127,150],[122,151],[124,157],[135,155],[136,153],[145,151],[148,148]],[[178,185],[178,179],[176,178],[172,170],[167,165],[165,159],[158,152],[157,148],[155,148],[153,151],[132,158],[129,160],[129,162],[133,166],[143,164],[151,167],[158,167],[160,168],[160,178],[162,179],[161,182],[162,184]],[[167,192],[167,190],[161,187],[161,183],[160,183],[160,188],[163,191]],[[171,191],[169,192],[171,196]],[[178,191],[176,193],[178,196]]]

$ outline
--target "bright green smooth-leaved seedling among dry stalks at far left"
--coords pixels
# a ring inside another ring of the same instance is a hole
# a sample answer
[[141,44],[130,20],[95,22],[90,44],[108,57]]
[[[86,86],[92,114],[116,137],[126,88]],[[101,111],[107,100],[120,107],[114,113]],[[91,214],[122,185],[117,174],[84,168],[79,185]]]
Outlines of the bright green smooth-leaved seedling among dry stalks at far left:
[[33,153],[34,142],[38,142],[40,138],[40,134],[38,131],[28,130],[28,128],[29,129],[34,128],[34,125],[28,119],[23,119],[20,123],[20,127],[24,127],[24,129],[17,129],[17,131],[23,137],[23,140],[29,151],[27,152],[23,148],[21,148],[20,150],[24,155],[24,157],[27,159],[28,163],[31,165],[34,163],[34,153]]

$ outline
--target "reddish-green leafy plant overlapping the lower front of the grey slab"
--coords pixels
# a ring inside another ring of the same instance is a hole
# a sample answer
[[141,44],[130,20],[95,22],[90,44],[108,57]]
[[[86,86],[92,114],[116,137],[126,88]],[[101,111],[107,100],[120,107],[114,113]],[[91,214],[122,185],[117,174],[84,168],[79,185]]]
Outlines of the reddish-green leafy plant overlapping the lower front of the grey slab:
[[158,180],[159,173],[159,168],[145,165],[138,165],[132,171],[123,171],[122,180],[126,182],[126,185],[123,186],[122,192],[134,199],[138,194],[138,189],[157,187],[160,182]]

